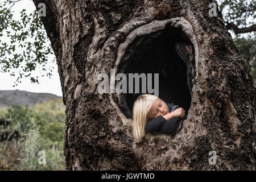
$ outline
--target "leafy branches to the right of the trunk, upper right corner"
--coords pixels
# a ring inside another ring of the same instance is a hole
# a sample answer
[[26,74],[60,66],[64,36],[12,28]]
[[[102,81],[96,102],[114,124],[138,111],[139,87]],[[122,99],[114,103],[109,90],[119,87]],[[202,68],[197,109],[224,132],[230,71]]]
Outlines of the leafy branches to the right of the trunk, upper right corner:
[[[217,2],[226,25],[233,23],[238,28],[243,28],[256,24],[256,1],[219,0]],[[234,31],[232,30],[232,32]],[[253,78],[254,86],[256,86],[255,31],[245,35],[237,34],[234,36],[233,40],[243,60],[245,60],[247,70]]]

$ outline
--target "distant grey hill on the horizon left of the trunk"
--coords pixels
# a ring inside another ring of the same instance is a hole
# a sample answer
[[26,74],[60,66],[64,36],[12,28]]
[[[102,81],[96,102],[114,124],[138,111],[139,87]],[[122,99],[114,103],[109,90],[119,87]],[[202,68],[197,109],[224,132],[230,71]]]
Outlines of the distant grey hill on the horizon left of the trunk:
[[12,104],[34,106],[47,100],[61,98],[51,93],[33,93],[21,90],[0,90],[0,107],[10,107]]

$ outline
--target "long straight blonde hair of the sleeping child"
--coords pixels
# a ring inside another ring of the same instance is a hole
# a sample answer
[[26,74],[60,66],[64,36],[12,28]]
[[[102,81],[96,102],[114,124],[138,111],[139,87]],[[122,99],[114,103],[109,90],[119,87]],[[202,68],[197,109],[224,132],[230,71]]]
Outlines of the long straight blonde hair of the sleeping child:
[[[134,137],[141,142],[145,135],[145,126],[147,123],[147,113],[152,106],[154,100],[162,101],[159,97],[151,94],[142,94],[133,104],[133,134]],[[162,101],[168,108],[166,102]]]

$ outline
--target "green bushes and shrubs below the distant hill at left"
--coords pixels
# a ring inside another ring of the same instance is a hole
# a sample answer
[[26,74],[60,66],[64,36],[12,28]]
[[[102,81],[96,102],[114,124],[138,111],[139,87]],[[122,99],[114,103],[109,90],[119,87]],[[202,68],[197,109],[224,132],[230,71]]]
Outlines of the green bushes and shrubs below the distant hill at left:
[[[61,99],[3,109],[5,118],[11,119],[9,128],[22,137],[0,142],[0,170],[64,170],[64,110]],[[46,152],[46,165],[38,163],[39,151]]]

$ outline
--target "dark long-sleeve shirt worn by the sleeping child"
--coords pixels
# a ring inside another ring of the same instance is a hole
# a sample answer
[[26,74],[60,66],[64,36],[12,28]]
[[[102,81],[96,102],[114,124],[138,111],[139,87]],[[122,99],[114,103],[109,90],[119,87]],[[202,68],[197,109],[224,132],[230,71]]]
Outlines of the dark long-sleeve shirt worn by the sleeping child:
[[[167,103],[169,112],[171,113],[175,109],[179,108],[180,106],[169,104]],[[165,134],[173,134],[175,133],[177,127],[180,124],[180,121],[183,121],[184,119],[187,119],[187,115],[183,118],[180,117],[174,117],[169,119],[168,121],[162,117],[162,115],[159,115],[159,117],[156,117],[154,119],[151,119],[150,121],[147,122],[145,130],[148,132],[161,132]]]

